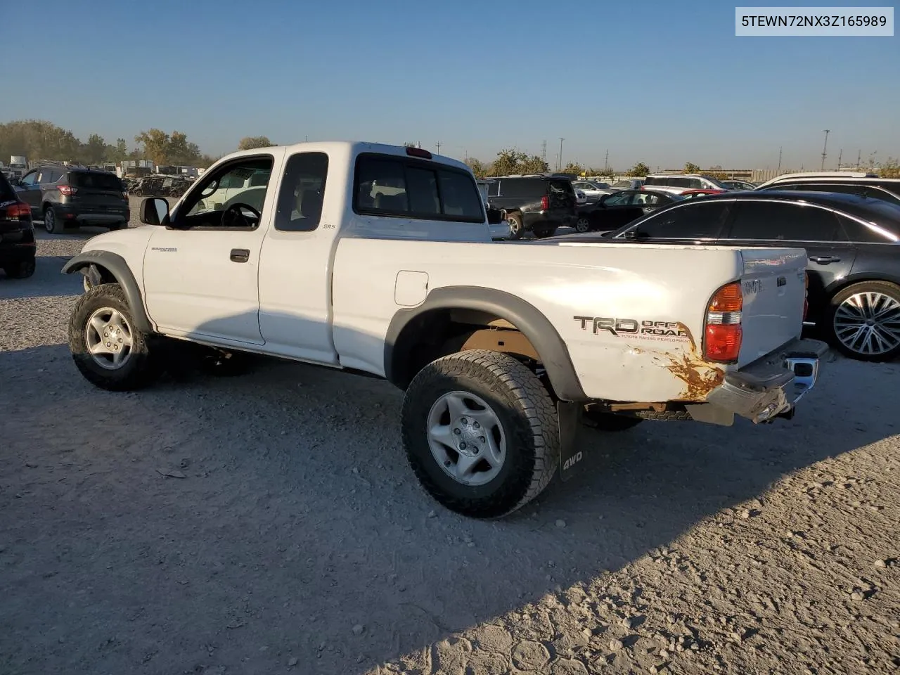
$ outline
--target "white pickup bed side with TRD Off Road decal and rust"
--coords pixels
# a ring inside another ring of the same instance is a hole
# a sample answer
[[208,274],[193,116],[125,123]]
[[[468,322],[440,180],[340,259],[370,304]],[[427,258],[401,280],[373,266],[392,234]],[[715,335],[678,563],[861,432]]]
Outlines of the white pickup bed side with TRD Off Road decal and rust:
[[610,401],[704,400],[725,372],[702,360],[707,303],[746,272],[734,247],[365,238],[341,239],[334,269],[334,341],[345,367],[384,374],[388,326],[409,306],[396,302],[398,277],[424,273],[415,277],[427,279],[421,300],[457,285],[529,302],[559,331],[587,395]]

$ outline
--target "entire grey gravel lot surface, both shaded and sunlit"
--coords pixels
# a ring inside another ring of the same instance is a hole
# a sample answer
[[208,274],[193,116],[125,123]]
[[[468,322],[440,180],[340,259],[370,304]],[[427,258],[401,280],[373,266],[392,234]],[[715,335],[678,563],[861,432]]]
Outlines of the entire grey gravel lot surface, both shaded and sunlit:
[[386,383],[91,387],[58,270],[94,231],[0,278],[0,672],[900,666],[897,364],[826,364],[773,425],[585,429],[571,482],[476,522],[419,490]]

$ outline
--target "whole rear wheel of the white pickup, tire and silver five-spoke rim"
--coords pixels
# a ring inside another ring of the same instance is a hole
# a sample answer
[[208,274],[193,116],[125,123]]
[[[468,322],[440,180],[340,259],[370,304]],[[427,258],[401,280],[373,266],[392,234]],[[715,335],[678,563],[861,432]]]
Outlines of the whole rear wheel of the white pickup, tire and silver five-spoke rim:
[[467,350],[426,365],[403,400],[403,446],[422,487],[472,518],[533,500],[559,462],[554,402],[512,356]]

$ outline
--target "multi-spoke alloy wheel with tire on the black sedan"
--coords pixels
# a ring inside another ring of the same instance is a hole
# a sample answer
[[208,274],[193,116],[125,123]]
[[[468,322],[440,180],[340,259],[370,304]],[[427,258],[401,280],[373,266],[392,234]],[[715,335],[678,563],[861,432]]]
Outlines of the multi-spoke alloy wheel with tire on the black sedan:
[[853,284],[837,293],[827,322],[832,344],[860,361],[900,356],[900,286],[887,282]]

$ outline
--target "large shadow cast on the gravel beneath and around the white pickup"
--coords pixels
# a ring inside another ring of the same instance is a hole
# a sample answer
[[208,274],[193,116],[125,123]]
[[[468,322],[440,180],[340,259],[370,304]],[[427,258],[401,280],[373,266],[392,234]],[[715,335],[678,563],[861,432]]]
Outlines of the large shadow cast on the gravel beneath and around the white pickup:
[[485,522],[419,489],[389,383],[269,358],[238,377],[172,370],[115,394],[86,383],[66,347],[0,353],[0,382],[17,382],[0,389],[11,671],[263,672],[293,655],[304,672],[362,672],[900,428],[878,387],[896,366],[838,359],[790,421],[584,429],[581,473]]

